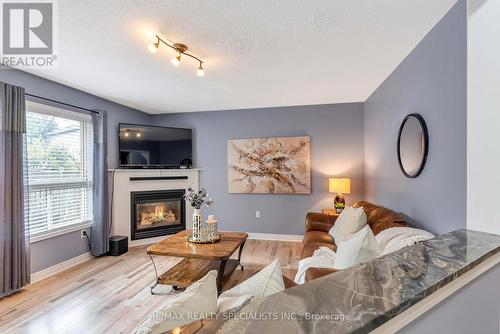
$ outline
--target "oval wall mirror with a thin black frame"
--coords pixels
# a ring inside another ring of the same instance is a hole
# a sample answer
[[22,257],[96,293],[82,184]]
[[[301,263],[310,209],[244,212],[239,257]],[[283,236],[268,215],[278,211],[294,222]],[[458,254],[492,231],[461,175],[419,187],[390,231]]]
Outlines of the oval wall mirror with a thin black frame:
[[422,173],[429,151],[427,125],[419,114],[405,117],[398,134],[398,160],[403,174],[415,178]]

